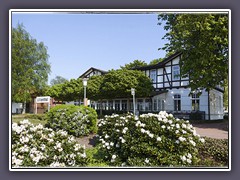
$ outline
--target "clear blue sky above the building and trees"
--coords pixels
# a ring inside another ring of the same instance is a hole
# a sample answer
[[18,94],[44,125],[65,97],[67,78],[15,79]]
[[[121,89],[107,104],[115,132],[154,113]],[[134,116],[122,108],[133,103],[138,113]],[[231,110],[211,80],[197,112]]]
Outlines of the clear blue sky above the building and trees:
[[18,23],[47,46],[49,82],[56,76],[76,79],[90,67],[107,71],[165,56],[158,50],[166,31],[157,14],[13,13],[12,26]]

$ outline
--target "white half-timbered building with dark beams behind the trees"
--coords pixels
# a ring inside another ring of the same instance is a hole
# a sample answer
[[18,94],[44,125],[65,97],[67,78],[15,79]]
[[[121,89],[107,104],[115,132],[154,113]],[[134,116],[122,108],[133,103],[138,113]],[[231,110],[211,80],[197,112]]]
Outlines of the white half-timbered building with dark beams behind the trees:
[[[199,89],[201,95],[192,92],[188,87],[189,77],[180,76],[180,58],[181,53],[175,53],[156,65],[137,68],[152,80],[154,92],[150,97],[136,98],[136,109],[139,112],[167,111],[185,119],[191,119],[190,116],[194,115],[198,115],[194,119],[223,119],[223,89],[220,87],[210,91]],[[100,72],[96,73],[96,69],[92,68],[80,77],[89,78],[94,74],[98,75]],[[91,101],[90,106],[99,110],[100,102]],[[132,111],[133,100],[127,98],[103,100],[102,109],[116,112]]]

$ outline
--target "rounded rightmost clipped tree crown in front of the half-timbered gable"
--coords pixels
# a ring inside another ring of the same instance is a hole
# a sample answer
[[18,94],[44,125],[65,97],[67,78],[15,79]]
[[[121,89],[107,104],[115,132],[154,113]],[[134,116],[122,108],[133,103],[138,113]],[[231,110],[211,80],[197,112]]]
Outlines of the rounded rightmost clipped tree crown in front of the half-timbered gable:
[[136,89],[136,97],[146,97],[152,92],[150,78],[137,70],[111,70],[104,75],[101,84],[102,98],[130,98],[131,88]]

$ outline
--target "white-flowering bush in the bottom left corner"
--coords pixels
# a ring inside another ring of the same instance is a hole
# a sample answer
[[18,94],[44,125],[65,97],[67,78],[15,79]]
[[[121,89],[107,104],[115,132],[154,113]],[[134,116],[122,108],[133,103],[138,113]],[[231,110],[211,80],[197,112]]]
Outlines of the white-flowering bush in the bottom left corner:
[[28,120],[12,124],[13,167],[86,166],[85,146],[66,131],[57,132]]

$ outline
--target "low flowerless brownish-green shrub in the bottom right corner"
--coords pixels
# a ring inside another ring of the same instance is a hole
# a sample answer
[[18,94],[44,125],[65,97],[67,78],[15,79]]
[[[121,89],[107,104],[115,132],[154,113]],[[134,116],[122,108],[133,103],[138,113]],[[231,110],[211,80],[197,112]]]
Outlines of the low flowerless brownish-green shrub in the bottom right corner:
[[205,138],[204,146],[198,147],[199,166],[228,166],[228,139]]

